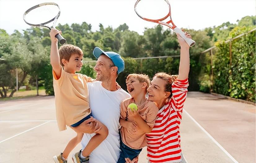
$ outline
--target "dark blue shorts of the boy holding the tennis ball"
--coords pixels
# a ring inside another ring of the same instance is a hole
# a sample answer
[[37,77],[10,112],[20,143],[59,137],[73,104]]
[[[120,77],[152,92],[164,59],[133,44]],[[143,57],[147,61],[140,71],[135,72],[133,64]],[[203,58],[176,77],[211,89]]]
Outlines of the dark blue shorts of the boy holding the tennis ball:
[[121,149],[121,153],[120,153],[120,157],[117,161],[117,163],[125,163],[125,158],[130,158],[131,160],[133,160],[135,157],[137,157],[139,155],[139,153],[142,151],[141,149],[132,149],[130,147],[128,147],[127,145],[125,145],[122,141],[121,138],[121,133],[119,131],[119,136],[120,136],[120,149]]

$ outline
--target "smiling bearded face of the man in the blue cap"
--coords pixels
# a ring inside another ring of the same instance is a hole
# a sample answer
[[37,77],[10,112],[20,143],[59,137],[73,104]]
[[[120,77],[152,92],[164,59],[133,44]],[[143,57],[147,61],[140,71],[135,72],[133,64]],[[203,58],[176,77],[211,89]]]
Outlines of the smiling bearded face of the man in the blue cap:
[[108,56],[101,55],[99,56],[94,70],[96,71],[96,80],[97,81],[106,81],[109,80],[111,76],[111,67],[112,63]]

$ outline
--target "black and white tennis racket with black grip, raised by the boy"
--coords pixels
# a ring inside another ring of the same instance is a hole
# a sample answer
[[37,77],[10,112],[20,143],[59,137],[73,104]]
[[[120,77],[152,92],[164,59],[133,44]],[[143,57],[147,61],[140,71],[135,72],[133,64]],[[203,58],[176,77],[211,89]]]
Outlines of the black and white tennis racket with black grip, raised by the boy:
[[[53,22],[52,27],[55,28],[57,19],[60,16],[60,7],[56,3],[41,3],[33,6],[23,14],[24,21],[32,27],[44,27],[51,30],[51,27],[46,26]],[[60,44],[65,44],[66,40],[60,35],[55,36]]]

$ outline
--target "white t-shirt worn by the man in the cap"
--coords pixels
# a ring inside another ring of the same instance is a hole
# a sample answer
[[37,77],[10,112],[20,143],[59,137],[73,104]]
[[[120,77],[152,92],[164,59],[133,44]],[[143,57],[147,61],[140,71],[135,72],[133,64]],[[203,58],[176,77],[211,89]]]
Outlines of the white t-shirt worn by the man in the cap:
[[[88,83],[89,103],[92,116],[108,127],[108,137],[90,154],[90,163],[114,163],[120,155],[120,140],[118,129],[120,127],[120,104],[130,98],[125,90],[106,90],[101,81]],[[84,134],[82,148],[95,134]]]

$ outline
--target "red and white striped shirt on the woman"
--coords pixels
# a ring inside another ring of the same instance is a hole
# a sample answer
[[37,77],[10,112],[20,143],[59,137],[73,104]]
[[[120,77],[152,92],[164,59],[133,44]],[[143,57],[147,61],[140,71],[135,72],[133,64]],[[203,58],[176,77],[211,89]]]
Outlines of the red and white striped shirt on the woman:
[[188,79],[172,84],[172,97],[157,114],[155,126],[146,134],[148,160],[173,163],[181,161],[179,124],[188,92]]

